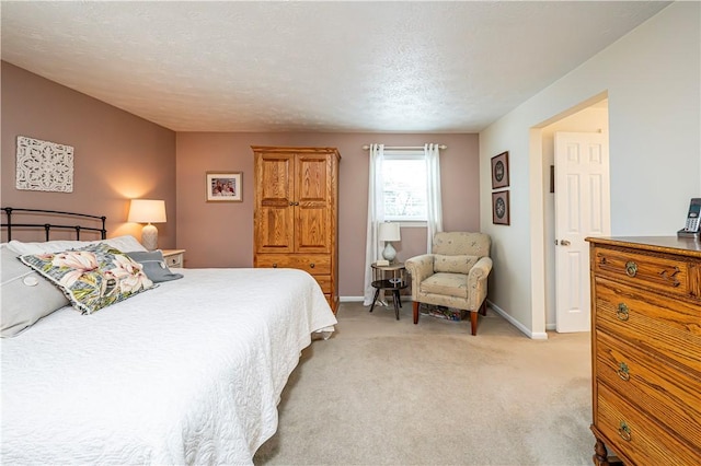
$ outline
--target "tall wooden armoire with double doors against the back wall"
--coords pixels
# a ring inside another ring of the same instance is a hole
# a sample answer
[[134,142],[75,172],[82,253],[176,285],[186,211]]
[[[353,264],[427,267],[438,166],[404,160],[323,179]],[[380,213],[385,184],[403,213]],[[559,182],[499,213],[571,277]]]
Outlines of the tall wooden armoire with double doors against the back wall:
[[253,266],[297,268],[338,308],[336,148],[252,145],[255,175]]

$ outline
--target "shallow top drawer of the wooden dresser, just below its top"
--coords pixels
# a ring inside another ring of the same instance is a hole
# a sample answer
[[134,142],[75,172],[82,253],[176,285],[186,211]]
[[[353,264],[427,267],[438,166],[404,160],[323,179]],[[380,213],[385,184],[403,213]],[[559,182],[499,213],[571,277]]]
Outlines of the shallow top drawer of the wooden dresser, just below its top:
[[689,286],[689,264],[673,257],[597,247],[593,266],[601,277],[699,299]]

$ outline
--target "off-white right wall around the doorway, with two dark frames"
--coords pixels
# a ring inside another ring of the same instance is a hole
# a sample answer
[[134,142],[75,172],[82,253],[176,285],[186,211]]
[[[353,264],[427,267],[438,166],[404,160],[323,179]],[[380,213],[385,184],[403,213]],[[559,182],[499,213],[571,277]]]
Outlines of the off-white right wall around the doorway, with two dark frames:
[[[542,128],[609,98],[611,232],[675,235],[701,197],[699,2],[675,2],[480,133],[480,212],[492,236],[489,300],[545,336]],[[590,102],[589,102],[590,103]],[[490,159],[509,151],[510,226],[492,224]]]

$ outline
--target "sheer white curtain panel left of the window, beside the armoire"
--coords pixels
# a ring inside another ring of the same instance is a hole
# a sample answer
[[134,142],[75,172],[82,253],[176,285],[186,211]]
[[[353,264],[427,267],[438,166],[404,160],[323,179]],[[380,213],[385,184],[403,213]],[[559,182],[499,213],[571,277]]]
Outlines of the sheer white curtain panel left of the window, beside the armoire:
[[378,224],[384,220],[384,183],[382,182],[382,163],[384,161],[384,144],[370,145],[370,166],[368,183],[368,231],[365,242],[365,294],[363,305],[372,304],[375,288],[372,268],[370,265],[380,257],[380,241],[378,240]]

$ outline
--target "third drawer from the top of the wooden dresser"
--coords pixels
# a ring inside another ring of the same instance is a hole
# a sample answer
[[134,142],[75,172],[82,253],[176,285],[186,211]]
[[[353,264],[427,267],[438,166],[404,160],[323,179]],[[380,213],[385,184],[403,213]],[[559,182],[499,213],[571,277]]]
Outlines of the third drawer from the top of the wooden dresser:
[[671,368],[627,341],[597,330],[596,374],[631,404],[659,423],[675,426],[676,433],[691,445],[701,445],[701,381]]

